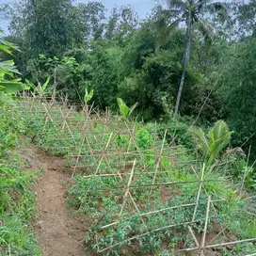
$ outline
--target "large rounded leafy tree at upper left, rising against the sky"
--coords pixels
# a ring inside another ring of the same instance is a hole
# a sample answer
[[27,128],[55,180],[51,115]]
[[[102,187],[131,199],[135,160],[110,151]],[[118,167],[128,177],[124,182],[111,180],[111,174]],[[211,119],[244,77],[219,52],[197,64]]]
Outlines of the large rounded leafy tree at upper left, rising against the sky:
[[61,56],[75,41],[81,41],[71,0],[22,0],[9,15],[11,36],[24,41],[28,57]]

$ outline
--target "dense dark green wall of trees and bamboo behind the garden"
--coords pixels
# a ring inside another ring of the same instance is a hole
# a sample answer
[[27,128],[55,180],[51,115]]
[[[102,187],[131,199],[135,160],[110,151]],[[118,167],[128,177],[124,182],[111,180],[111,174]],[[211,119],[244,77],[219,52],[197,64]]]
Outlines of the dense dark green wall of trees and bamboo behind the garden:
[[77,102],[93,88],[103,109],[116,109],[117,97],[138,103],[143,120],[168,121],[176,104],[194,124],[226,120],[233,145],[255,153],[255,1],[164,2],[142,21],[130,7],[107,15],[93,1],[23,0],[2,11],[11,18],[8,40],[21,48],[23,79],[38,84],[51,75]]

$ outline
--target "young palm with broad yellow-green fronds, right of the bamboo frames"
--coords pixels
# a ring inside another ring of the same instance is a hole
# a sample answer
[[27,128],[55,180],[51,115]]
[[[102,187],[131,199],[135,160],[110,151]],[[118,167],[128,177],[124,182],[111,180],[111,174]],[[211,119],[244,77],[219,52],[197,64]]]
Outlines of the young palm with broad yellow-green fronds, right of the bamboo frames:
[[190,128],[189,133],[194,140],[196,148],[204,155],[208,167],[215,163],[219,154],[231,142],[232,137],[232,132],[223,120],[216,121],[207,136],[200,128],[196,127]]

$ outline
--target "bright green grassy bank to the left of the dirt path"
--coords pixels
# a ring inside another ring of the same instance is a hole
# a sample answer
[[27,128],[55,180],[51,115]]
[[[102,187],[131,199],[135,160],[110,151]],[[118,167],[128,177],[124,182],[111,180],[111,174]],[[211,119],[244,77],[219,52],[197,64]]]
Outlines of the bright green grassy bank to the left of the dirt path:
[[35,194],[27,189],[35,174],[21,168],[15,152],[25,126],[8,96],[0,98],[0,255],[38,255],[29,222],[34,216]]

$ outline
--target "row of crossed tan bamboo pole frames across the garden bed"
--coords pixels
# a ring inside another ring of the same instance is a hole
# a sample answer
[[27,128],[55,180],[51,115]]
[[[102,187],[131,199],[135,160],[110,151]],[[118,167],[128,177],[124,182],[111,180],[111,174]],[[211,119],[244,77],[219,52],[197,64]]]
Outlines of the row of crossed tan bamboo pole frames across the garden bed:
[[[43,135],[45,132],[49,131],[50,128],[52,134],[48,134],[48,136],[52,136],[51,139],[56,139],[57,142],[59,142],[59,140],[63,142],[65,140],[72,141],[72,146],[67,146],[65,143],[63,143],[63,145],[58,143],[57,147],[60,150],[61,148],[70,148],[69,161],[72,163],[73,175],[78,170],[84,170],[84,178],[86,179],[93,179],[95,177],[101,179],[104,179],[105,177],[113,177],[114,179],[120,180],[119,186],[108,188],[108,190],[119,189],[119,193],[120,191],[123,191],[119,216],[112,223],[100,227],[99,231],[113,228],[123,221],[123,212],[127,208],[129,200],[131,201],[136,214],[140,217],[141,223],[145,225],[146,232],[136,234],[133,237],[127,237],[124,241],[126,243],[146,236],[149,233],[163,232],[168,229],[177,228],[177,226],[187,227],[187,231],[194,241],[193,248],[178,249],[176,250],[177,255],[184,255],[184,252],[189,251],[196,251],[199,255],[204,255],[204,252],[210,248],[228,247],[239,243],[256,241],[256,238],[251,238],[212,244],[217,237],[222,236],[224,238],[226,236],[227,227],[220,225],[220,232],[216,234],[216,237],[212,239],[210,244],[209,242],[206,243],[208,223],[211,218],[210,212],[216,212],[216,202],[225,200],[213,200],[210,195],[208,195],[207,206],[205,209],[204,229],[199,241],[192,226],[198,221],[196,215],[200,204],[200,195],[202,193],[207,194],[204,184],[210,182],[210,180],[207,180],[204,166],[200,171],[196,171],[192,168],[192,171],[195,174],[194,181],[166,181],[166,179],[163,180],[161,178],[165,176],[165,173],[169,172],[169,169],[163,165],[163,159],[167,159],[173,166],[175,166],[176,159],[181,152],[179,151],[179,147],[173,144],[173,141],[167,141],[167,131],[163,131],[162,138],[160,139],[157,136],[159,131],[157,131],[155,125],[153,140],[156,143],[149,145],[151,148],[150,150],[142,150],[136,142],[136,130],[137,127],[141,127],[142,124],[138,125],[136,122],[122,121],[118,115],[113,115],[108,110],[102,113],[94,107],[93,104],[90,106],[81,104],[71,105],[67,98],[64,99],[56,96],[30,97],[29,95],[23,95],[23,97],[24,101],[21,103],[21,108],[24,111],[24,115],[36,118],[40,117],[40,120],[42,121],[42,128],[39,131],[40,134]],[[97,129],[97,127],[100,127],[101,129]],[[61,137],[62,135],[65,136]],[[117,142],[117,138],[121,136],[126,137],[125,147],[120,147]],[[50,145],[48,149],[51,147],[53,146]],[[88,157],[89,159],[87,159],[87,161],[83,161],[83,159]],[[144,163],[143,159],[145,157],[151,157],[153,159],[153,165],[151,167]],[[188,163],[184,164],[188,166],[190,163],[188,161]],[[115,172],[112,171],[113,169],[115,169]],[[134,184],[137,179],[140,179],[141,175],[150,177],[151,183]],[[149,212],[142,212],[140,206],[133,197],[133,189],[138,187],[151,189],[152,193],[154,187],[185,183],[199,184],[196,201],[193,203],[184,203],[182,205],[174,205],[164,209],[152,209],[152,211]],[[148,230],[144,216],[165,213],[169,210],[186,207],[194,207],[194,214],[191,220],[177,225],[173,224],[166,227],[159,227],[153,231]],[[100,248],[98,245],[98,252],[104,252],[118,246],[120,246],[120,243],[105,248]]]

